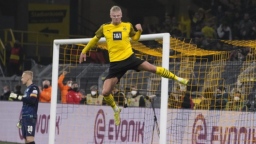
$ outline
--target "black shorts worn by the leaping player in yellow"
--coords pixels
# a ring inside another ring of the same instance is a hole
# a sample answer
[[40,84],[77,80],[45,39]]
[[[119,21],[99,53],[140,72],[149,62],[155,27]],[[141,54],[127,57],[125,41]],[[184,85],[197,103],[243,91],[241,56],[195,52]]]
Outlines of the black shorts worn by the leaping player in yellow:
[[120,81],[122,76],[128,70],[135,70],[139,72],[140,70],[138,70],[138,66],[143,62],[145,62],[145,60],[136,57],[135,54],[132,54],[127,59],[121,61],[110,62],[108,75],[106,76],[105,80],[117,77],[118,81]]

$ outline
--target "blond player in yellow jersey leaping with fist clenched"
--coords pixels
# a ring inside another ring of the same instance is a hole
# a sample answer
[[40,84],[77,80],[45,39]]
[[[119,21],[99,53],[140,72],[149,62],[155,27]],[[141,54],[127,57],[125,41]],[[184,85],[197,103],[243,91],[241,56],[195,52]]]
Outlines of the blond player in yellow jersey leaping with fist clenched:
[[108,45],[110,67],[108,75],[106,76],[103,84],[102,95],[104,96],[104,99],[108,105],[113,108],[115,124],[119,125],[119,113],[121,108],[116,106],[114,98],[111,95],[111,91],[127,70],[135,70],[137,72],[141,70],[149,71],[164,78],[174,79],[184,85],[187,85],[189,80],[179,78],[172,74],[169,70],[151,65],[147,61],[135,56],[132,51],[129,38],[131,38],[133,41],[138,41],[142,28],[140,24],[135,25],[136,29],[138,30],[135,32],[131,23],[121,21],[122,11],[120,7],[113,6],[110,9],[110,18],[112,21],[101,25],[101,27],[95,32],[96,36],[94,36],[83,49],[79,62],[81,63],[83,60],[85,61],[86,52],[91,49],[101,37],[105,36]]

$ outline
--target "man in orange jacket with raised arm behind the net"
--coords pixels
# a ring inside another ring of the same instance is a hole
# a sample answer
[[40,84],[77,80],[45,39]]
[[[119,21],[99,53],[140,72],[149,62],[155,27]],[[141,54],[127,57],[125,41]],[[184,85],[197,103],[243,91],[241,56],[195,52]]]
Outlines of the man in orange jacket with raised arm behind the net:
[[62,75],[60,75],[59,80],[58,80],[58,87],[60,88],[60,92],[61,92],[61,102],[62,103],[67,103],[66,100],[66,95],[68,93],[68,89],[70,89],[71,85],[72,85],[72,79],[67,80],[66,85],[63,84],[63,79],[65,78],[65,75],[68,72],[64,71]]

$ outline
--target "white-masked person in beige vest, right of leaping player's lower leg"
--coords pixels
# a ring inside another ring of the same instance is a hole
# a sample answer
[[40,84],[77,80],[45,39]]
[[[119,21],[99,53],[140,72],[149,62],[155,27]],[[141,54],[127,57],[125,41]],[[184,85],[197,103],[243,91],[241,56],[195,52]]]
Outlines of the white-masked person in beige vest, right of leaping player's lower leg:
[[136,91],[136,86],[131,86],[131,97],[128,99],[128,107],[145,107],[145,98],[144,95]]

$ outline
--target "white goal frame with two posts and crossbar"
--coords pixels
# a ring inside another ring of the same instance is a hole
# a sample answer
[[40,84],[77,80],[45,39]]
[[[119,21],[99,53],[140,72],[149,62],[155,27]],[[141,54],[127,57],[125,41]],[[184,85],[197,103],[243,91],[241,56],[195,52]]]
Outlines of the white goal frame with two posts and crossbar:
[[[50,111],[49,144],[55,143],[56,128],[56,109],[58,91],[58,67],[59,67],[59,48],[61,44],[87,44],[92,38],[83,39],[58,39],[53,41],[53,63],[52,63],[52,97]],[[141,35],[139,41],[163,39],[162,67],[169,70],[170,34],[147,34]],[[98,43],[106,42],[101,38]],[[161,110],[160,110],[160,138],[159,143],[166,143],[167,131],[167,105],[168,105],[168,79],[162,77],[161,81]]]

